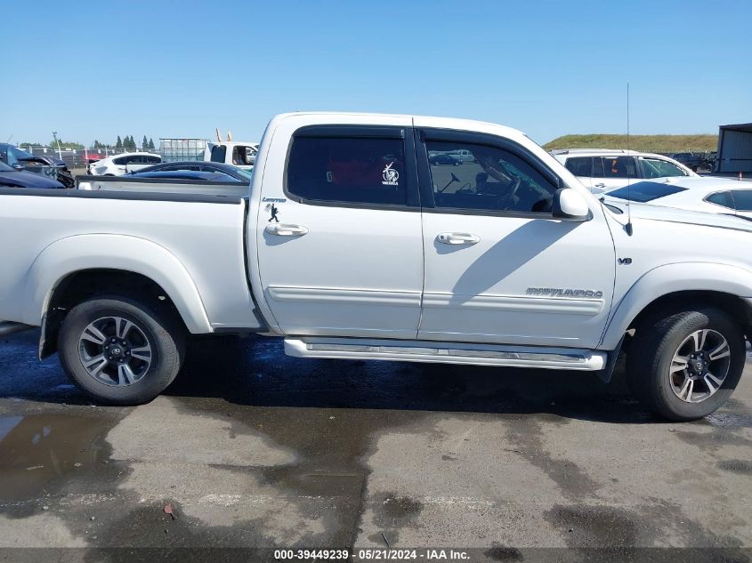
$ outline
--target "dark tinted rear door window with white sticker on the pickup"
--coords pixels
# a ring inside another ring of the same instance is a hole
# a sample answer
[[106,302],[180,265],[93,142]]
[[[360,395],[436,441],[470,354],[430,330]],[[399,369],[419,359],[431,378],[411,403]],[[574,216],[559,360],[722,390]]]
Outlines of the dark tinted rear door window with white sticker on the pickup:
[[403,141],[296,137],[287,191],[316,201],[406,205]]

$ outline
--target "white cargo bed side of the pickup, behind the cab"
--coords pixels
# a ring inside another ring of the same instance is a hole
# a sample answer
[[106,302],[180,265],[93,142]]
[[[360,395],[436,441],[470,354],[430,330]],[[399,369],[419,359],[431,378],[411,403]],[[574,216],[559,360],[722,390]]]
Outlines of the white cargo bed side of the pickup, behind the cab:
[[[128,265],[147,275],[138,269],[144,267],[139,254],[151,248],[195,286],[208,332],[255,326],[246,212],[247,202],[238,196],[0,188],[0,320],[41,324],[37,294],[49,288],[38,276]],[[165,272],[168,267],[161,265]],[[59,281],[53,279],[53,286]]]

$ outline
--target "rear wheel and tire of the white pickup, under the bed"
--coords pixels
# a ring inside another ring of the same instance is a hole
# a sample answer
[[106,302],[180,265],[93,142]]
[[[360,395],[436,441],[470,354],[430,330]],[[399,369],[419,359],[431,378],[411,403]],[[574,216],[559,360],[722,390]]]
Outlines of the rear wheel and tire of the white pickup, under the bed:
[[141,405],[180,371],[185,330],[170,310],[130,297],[101,296],[70,310],[58,354],[70,381],[96,402]]

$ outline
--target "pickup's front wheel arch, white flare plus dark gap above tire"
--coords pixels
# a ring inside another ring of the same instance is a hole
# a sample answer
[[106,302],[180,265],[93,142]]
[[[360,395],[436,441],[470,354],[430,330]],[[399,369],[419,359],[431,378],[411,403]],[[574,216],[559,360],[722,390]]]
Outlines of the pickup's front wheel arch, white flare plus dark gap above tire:
[[728,312],[752,341],[752,272],[727,264],[677,263],[652,269],[629,289],[611,315],[601,348],[613,350],[643,318],[686,303]]

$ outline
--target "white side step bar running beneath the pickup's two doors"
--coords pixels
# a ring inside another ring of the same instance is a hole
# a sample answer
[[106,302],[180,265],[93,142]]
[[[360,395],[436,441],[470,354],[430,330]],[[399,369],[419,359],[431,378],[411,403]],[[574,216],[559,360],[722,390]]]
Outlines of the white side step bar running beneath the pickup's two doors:
[[602,370],[607,353],[573,348],[497,346],[464,342],[287,338],[285,353],[297,358],[385,359],[473,366],[539,367],[586,372]]

